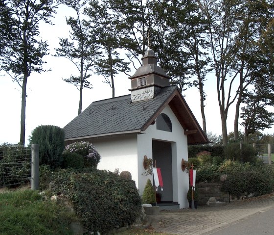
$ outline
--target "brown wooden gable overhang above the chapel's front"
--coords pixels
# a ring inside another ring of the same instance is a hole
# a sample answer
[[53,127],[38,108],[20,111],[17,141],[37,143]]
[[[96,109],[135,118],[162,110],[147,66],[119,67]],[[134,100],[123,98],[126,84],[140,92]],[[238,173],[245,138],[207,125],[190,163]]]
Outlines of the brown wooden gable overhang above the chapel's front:
[[187,144],[206,144],[209,141],[206,138],[204,131],[201,129],[195,116],[186,104],[179,89],[176,89],[171,96],[163,103],[158,111],[148,120],[148,122],[142,127],[141,131],[144,131],[152,124],[152,122],[159,116],[161,111],[166,105],[169,105],[175,116],[179,120],[183,127],[184,134],[187,135]]

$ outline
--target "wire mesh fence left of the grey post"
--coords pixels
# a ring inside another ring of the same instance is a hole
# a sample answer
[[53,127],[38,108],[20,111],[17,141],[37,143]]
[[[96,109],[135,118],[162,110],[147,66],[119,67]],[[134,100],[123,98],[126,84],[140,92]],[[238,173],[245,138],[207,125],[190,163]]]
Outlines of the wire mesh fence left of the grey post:
[[0,146],[0,187],[31,180],[31,148],[23,145]]

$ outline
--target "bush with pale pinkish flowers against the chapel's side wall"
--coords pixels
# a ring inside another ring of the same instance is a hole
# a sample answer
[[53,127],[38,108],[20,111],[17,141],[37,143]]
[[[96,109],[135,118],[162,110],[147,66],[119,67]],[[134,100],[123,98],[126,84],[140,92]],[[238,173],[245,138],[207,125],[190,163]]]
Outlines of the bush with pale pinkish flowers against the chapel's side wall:
[[79,141],[68,144],[64,153],[76,153],[84,157],[84,167],[97,167],[101,160],[100,154],[90,142]]

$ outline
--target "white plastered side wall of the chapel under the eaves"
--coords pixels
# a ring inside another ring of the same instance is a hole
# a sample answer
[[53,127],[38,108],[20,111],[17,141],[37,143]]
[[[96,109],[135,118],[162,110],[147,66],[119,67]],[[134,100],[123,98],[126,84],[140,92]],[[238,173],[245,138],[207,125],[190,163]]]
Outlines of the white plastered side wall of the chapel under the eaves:
[[92,139],[91,143],[101,155],[97,169],[114,172],[119,168],[119,172],[129,171],[132,180],[138,185],[137,134]]

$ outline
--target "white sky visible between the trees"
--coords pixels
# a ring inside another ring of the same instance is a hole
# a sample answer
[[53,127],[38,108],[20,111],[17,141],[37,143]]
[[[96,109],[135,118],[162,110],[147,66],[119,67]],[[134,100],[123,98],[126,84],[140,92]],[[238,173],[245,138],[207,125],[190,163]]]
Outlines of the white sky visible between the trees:
[[[66,25],[65,16],[70,14],[68,7],[60,7],[52,22],[54,26],[43,24],[40,28],[41,37],[47,40],[50,54],[59,46],[58,37],[68,37],[69,27]],[[141,58],[141,56],[140,56]],[[77,75],[74,65],[65,58],[47,55],[46,69],[50,72],[41,74],[32,73],[27,81],[26,99],[26,134],[28,138],[31,131],[39,125],[55,125],[63,128],[78,114],[79,91],[75,86],[63,81],[71,74]],[[133,75],[135,69],[132,69]],[[104,78],[94,75],[90,81],[93,89],[84,89],[82,110],[93,101],[109,99],[112,97],[111,87],[103,83]],[[114,78],[115,96],[130,94],[130,79],[124,74]],[[206,126],[207,131],[221,134],[221,118],[217,103],[216,81],[214,74],[210,74],[205,84],[206,90]],[[185,100],[202,127],[200,111],[200,96],[198,89],[189,88],[185,93]],[[20,140],[20,115],[21,115],[21,88],[10,77],[0,72],[0,143],[18,143]],[[228,113],[228,132],[233,131],[234,109],[231,106]],[[241,126],[239,126],[242,129]],[[265,130],[264,133],[274,133],[274,129]]]

